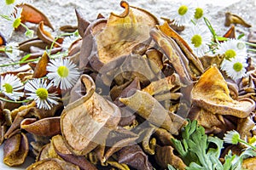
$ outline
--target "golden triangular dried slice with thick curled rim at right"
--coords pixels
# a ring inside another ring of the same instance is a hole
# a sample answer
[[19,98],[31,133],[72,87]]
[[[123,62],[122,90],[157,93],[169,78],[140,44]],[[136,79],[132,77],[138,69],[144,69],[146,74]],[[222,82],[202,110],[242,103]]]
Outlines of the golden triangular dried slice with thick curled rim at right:
[[192,102],[212,113],[232,115],[240,118],[249,116],[255,108],[253,99],[234,100],[224,77],[216,66],[208,69],[192,89]]

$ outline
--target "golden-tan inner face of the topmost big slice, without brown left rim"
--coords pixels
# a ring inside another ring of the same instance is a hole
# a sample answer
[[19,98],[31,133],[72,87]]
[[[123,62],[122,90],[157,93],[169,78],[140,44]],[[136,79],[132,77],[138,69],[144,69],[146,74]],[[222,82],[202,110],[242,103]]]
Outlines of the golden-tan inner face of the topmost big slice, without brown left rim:
[[123,14],[111,13],[105,29],[96,36],[99,59],[108,63],[121,55],[130,54],[138,42],[148,39],[149,31],[158,21],[147,11],[131,7],[125,1]]

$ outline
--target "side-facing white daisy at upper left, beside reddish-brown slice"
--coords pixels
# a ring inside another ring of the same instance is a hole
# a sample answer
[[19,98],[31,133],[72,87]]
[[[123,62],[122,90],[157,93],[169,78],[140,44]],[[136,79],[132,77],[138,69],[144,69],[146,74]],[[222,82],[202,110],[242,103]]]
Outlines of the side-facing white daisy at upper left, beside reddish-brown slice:
[[13,31],[15,30],[15,28],[18,28],[18,26],[20,26],[21,23],[21,12],[22,12],[22,8],[16,8],[15,13],[11,14],[9,16],[9,20],[5,21],[6,24],[6,29],[5,29],[5,34],[6,37],[11,37]]

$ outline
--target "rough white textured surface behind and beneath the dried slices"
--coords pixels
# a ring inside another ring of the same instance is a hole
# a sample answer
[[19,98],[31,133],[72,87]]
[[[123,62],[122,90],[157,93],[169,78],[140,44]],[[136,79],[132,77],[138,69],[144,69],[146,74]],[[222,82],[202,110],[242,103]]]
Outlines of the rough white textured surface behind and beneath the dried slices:
[[[1,0],[3,1],[3,0]],[[170,17],[168,10],[172,8],[172,4],[179,2],[179,0],[131,0],[128,1],[132,6],[144,8],[156,15],[158,18]],[[254,0],[200,0],[197,1],[202,7],[206,9],[207,18],[212,22],[214,29],[218,32],[218,35],[223,35],[228,30],[224,27],[224,14],[230,11],[231,13],[240,15],[249,24],[253,25],[250,29],[255,29],[256,17],[255,8],[256,4]],[[53,35],[60,33],[58,28],[64,25],[77,25],[77,19],[74,9],[78,8],[85,16],[87,20],[96,18],[98,13],[102,13],[108,16],[110,12],[119,14],[123,8],[119,7],[119,0],[33,0],[32,5],[49,17],[50,22],[55,27]],[[236,30],[241,33],[247,34],[250,30],[237,26]],[[0,20],[0,31],[4,30],[4,22]],[[9,41],[20,42],[26,39],[20,32],[15,32],[14,37]],[[9,63],[10,60],[0,55],[0,65]],[[14,67],[0,68],[0,71],[6,71],[14,69]],[[32,161],[26,161],[26,164],[22,167],[7,167],[3,164],[3,146],[0,147],[0,169],[25,169],[27,165]]]

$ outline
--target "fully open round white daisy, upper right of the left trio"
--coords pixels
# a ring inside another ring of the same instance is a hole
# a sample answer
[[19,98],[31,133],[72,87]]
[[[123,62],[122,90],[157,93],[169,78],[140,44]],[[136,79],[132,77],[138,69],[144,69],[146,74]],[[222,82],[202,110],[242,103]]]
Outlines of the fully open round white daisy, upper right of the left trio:
[[63,90],[72,88],[79,79],[79,71],[70,59],[53,59],[47,66],[47,77],[51,80],[55,87]]

